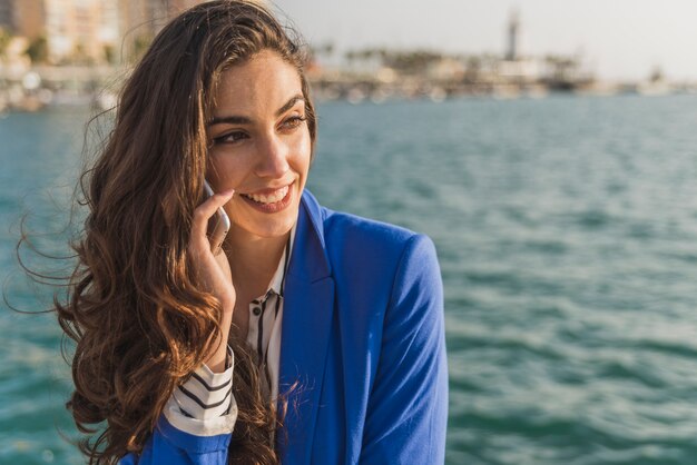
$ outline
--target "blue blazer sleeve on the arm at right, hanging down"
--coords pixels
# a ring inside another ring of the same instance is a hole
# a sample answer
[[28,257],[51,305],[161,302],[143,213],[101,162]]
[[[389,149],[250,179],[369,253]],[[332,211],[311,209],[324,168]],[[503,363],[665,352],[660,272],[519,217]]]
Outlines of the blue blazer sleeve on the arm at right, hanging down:
[[442,464],[448,423],[443,286],[426,236],[406,244],[385,313],[361,464]]

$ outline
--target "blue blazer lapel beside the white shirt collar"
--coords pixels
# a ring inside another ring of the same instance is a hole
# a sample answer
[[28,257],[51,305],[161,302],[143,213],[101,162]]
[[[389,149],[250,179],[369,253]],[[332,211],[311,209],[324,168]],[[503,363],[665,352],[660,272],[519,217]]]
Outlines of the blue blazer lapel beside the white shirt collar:
[[288,264],[281,335],[278,392],[287,397],[276,446],[284,464],[310,463],[334,314],[334,279],[324,247],[320,206],[303,195]]

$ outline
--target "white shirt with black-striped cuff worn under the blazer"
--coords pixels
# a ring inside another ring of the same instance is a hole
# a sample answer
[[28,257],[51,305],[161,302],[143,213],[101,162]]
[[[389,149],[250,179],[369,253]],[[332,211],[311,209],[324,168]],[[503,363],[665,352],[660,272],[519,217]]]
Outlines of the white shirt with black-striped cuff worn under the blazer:
[[[283,291],[295,227],[268,289],[249,303],[247,329],[248,349],[253,350],[265,370],[273,404],[278,396],[278,370],[281,365],[281,326],[283,321]],[[226,369],[213,373],[205,364],[192,377],[178,386],[167,405],[165,416],[177,429],[196,436],[216,436],[232,433],[237,419],[237,403],[233,395],[234,353],[227,348]]]

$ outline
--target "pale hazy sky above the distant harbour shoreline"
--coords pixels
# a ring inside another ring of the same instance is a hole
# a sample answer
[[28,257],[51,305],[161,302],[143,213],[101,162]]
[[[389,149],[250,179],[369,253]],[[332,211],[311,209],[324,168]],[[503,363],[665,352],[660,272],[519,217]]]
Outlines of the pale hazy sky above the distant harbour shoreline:
[[697,0],[275,0],[313,46],[505,50],[511,13],[522,53],[577,55],[606,80],[641,80],[658,67],[697,80]]

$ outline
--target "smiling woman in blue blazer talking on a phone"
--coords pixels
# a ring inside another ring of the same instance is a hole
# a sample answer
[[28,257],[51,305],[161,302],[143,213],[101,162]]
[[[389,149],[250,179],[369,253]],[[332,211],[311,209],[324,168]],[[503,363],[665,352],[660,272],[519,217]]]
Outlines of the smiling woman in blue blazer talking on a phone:
[[433,245],[304,189],[303,63],[267,10],[220,0],[174,19],[125,86],[57,305],[68,407],[84,432],[106,422],[90,463],[443,462]]

